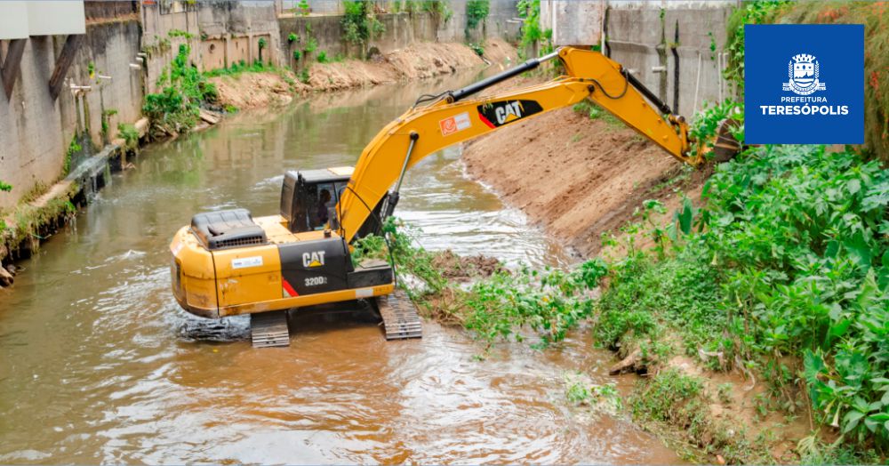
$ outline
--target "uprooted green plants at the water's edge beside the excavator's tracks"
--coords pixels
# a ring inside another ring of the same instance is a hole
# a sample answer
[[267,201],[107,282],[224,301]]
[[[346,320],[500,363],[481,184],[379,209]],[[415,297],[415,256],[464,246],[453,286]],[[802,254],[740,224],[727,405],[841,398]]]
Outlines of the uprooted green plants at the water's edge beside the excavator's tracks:
[[[602,261],[589,261],[570,272],[501,269],[464,289],[445,276],[437,259],[440,253],[414,245],[412,232],[404,225],[396,229],[396,221],[388,221],[386,232],[399,277],[409,275],[423,283],[408,290],[414,301],[440,320],[465,326],[489,347],[498,340],[523,341],[523,326],[537,333],[536,347],[562,341],[589,317],[593,301],[588,292],[606,271]],[[384,245],[380,237],[362,238],[356,242],[353,259],[388,259]]]

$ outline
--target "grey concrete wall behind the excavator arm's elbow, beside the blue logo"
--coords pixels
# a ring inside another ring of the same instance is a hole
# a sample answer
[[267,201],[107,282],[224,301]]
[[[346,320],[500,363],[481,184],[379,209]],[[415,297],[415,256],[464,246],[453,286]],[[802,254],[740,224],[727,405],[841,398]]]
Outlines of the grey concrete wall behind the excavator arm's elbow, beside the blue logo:
[[542,0],[541,23],[553,29],[558,45],[601,44],[605,38],[606,54],[681,115],[692,116],[704,101],[733,95],[722,77],[720,51],[737,5],[736,0]]

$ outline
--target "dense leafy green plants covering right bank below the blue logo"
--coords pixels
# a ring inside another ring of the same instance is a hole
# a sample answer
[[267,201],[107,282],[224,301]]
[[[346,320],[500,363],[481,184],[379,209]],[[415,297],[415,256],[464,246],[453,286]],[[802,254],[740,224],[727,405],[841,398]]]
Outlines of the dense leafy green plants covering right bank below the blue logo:
[[889,170],[850,149],[750,149],[717,167],[705,208],[686,203],[652,252],[612,265],[597,340],[678,335],[688,356],[719,354],[711,368],[765,373],[782,409],[807,409],[804,388],[817,420],[885,445],[887,193]]

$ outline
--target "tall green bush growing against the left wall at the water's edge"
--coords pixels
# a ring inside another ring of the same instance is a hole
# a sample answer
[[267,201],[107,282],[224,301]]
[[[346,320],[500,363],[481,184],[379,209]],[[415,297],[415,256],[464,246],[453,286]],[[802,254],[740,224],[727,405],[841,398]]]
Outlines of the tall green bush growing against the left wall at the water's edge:
[[157,79],[161,92],[145,96],[142,113],[152,128],[162,133],[181,133],[197,124],[203,102],[214,102],[219,95],[216,86],[189,63],[188,45],[181,44],[179,53]]

